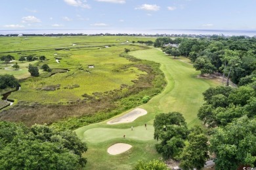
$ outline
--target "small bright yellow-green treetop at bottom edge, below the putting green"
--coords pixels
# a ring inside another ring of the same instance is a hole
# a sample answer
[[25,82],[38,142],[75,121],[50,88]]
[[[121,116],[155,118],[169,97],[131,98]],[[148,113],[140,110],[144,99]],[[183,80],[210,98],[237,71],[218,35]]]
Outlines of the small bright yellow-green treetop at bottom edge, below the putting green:
[[154,159],[149,162],[139,160],[133,170],[168,170],[167,165],[160,160]]

